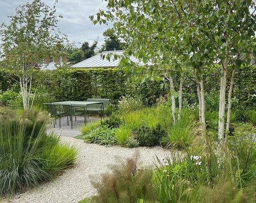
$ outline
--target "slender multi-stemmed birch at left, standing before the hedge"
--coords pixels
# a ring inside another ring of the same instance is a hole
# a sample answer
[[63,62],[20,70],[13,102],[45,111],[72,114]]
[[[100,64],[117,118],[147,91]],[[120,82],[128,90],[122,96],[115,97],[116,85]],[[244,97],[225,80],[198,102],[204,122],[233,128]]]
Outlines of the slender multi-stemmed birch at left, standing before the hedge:
[[34,100],[30,95],[34,70],[62,54],[65,36],[57,30],[61,16],[56,16],[56,3],[51,8],[41,0],[34,0],[18,6],[16,14],[9,16],[10,24],[1,26],[3,66],[19,78],[24,109],[31,107]]

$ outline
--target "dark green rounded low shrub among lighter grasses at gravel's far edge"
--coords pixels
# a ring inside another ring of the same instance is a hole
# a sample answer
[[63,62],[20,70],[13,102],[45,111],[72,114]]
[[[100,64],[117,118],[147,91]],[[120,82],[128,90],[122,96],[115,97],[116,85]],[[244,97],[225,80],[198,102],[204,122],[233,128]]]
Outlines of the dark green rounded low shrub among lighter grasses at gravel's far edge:
[[155,128],[141,126],[135,132],[135,139],[139,142],[139,146],[155,146],[159,145],[160,139],[165,135],[161,125],[157,124]]

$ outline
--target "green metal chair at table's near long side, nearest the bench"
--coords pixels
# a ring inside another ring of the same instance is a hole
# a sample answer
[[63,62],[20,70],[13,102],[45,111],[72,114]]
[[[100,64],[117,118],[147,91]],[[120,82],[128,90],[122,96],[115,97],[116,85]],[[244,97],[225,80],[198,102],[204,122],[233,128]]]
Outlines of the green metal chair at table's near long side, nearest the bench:
[[[63,107],[65,114],[67,114],[67,118],[69,116],[71,118],[71,129],[73,129],[73,116],[75,116],[75,121],[76,121],[76,116],[83,115],[84,116],[84,124],[86,124],[86,109],[84,106],[74,107],[71,104],[63,104],[62,107]],[[69,125],[69,123],[68,123],[68,125]]]

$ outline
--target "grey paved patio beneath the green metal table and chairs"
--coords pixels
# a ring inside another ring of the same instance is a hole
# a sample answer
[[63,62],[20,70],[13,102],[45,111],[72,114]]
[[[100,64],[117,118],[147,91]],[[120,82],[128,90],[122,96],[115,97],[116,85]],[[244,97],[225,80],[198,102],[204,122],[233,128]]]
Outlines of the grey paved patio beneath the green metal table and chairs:
[[[89,119],[87,119],[88,123],[94,122],[96,120],[99,120],[101,118],[99,117],[89,117]],[[57,124],[55,124],[54,127],[54,123],[52,122],[52,124],[49,124],[47,126],[47,132],[55,132],[60,136],[64,136],[64,137],[69,137],[69,138],[74,138],[75,136],[78,136],[81,134],[81,132],[79,131],[80,127],[84,125],[84,118],[77,116],[76,117],[76,121],[75,121],[75,117],[73,117],[73,129],[71,129],[71,121],[69,121],[69,125],[68,125],[68,120],[67,117],[62,117],[61,118],[61,128],[60,128],[60,120],[57,119]]]

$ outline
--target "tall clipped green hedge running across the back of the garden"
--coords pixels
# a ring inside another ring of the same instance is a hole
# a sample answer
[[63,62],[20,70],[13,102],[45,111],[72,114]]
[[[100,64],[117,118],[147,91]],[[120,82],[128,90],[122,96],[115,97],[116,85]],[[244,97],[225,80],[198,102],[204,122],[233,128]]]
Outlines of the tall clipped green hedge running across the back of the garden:
[[[209,109],[218,108],[219,72],[216,69],[204,73],[205,98]],[[14,75],[0,71],[0,93],[8,89],[19,91]],[[121,96],[139,94],[147,105],[155,103],[156,99],[168,93],[161,89],[160,82],[132,82],[130,76],[120,69],[57,69],[54,71],[36,70],[35,83],[40,83],[40,89],[47,91],[52,101],[86,100],[91,97],[110,98],[116,104]],[[179,82],[177,83],[177,85]],[[34,86],[35,88],[35,86]],[[40,89],[37,93],[40,92]],[[178,86],[176,86],[178,89]],[[228,91],[228,90],[227,90]],[[196,85],[193,79],[186,79],[183,85],[183,101],[188,104],[198,101]],[[233,98],[239,106],[256,104],[256,66],[237,72],[234,83]]]

